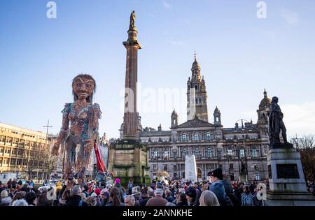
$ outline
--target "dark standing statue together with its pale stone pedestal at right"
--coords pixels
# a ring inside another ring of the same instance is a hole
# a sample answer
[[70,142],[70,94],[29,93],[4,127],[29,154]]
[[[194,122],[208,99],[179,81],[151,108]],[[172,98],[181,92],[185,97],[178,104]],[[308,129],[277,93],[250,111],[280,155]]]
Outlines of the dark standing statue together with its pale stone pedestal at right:
[[277,97],[272,98],[269,108],[269,141],[268,205],[315,205],[315,196],[307,191],[300,153],[287,141],[286,126]]

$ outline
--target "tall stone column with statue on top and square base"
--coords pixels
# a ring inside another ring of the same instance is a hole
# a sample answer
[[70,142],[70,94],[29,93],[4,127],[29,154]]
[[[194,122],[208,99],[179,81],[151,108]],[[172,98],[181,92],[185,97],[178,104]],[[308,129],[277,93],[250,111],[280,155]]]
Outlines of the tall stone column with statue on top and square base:
[[148,159],[146,145],[142,145],[138,136],[137,112],[137,78],[138,50],[141,45],[137,40],[137,29],[134,26],[134,11],[130,15],[128,39],[123,42],[127,50],[125,78],[125,111],[123,122],[123,138],[111,145],[109,149],[109,170],[113,177],[120,178],[122,185],[129,181],[134,184],[151,182],[148,176]]

